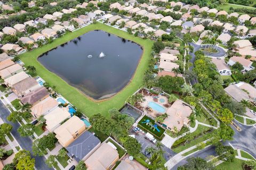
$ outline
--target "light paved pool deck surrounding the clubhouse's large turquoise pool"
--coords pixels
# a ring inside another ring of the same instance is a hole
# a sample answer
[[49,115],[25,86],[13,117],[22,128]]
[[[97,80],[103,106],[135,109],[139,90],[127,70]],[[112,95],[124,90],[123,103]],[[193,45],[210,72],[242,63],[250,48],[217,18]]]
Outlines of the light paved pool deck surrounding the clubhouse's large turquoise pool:
[[[148,111],[147,108],[149,107],[149,106],[148,106],[148,103],[149,103],[149,102],[154,102],[154,103],[156,103],[156,104],[162,106],[162,107],[165,109],[165,112],[167,112],[167,109],[171,106],[171,105],[168,103],[168,98],[165,97],[165,96],[159,95],[159,97],[156,98],[156,99],[153,98],[153,96],[144,96],[143,99],[145,99],[145,101],[142,101],[141,103],[139,103],[140,106],[143,107],[143,112],[146,113],[146,114],[148,114],[148,115],[150,115],[150,116],[152,116],[152,117],[154,117],[154,118],[156,118],[157,116],[162,115],[163,113],[158,113],[158,112],[155,111],[155,110],[153,110],[153,111]],[[159,99],[164,99],[164,102],[161,103],[161,102],[159,101]],[[164,105],[169,105],[169,107],[165,107]]]

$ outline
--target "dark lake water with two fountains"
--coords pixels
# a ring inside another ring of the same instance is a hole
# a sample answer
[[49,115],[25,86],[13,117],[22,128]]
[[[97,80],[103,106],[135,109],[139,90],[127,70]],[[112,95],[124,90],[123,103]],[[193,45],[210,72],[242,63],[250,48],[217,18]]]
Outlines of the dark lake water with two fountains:
[[[104,57],[99,57],[101,52]],[[129,83],[142,53],[132,41],[95,30],[52,49],[38,61],[85,95],[103,99]]]

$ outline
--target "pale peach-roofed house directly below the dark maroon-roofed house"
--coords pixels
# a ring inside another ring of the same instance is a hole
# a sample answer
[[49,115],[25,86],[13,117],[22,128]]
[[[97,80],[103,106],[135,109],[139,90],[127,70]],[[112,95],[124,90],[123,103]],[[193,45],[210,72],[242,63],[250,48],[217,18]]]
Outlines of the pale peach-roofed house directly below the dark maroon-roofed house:
[[50,113],[54,108],[58,107],[58,105],[59,103],[57,100],[54,100],[52,97],[48,96],[30,108],[31,114],[38,118],[41,115]]

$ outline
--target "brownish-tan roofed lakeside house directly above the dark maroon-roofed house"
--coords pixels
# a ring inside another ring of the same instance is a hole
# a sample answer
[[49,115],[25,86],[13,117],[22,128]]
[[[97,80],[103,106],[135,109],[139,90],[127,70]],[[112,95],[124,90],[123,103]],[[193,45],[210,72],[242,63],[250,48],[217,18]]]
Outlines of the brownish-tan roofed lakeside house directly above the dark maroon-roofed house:
[[[22,69],[21,69],[22,71]],[[21,80],[20,82],[14,84],[12,86],[12,91],[19,97],[23,97],[27,94],[29,94],[29,92],[34,91],[36,89],[38,89],[40,86],[38,84],[38,82],[31,77],[28,77],[24,80]]]

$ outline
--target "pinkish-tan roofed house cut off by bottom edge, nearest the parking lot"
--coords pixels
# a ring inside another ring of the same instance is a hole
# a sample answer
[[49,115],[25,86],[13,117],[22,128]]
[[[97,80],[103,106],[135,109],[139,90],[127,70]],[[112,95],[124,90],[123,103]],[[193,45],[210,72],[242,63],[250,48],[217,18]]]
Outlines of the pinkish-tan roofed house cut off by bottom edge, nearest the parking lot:
[[115,170],[147,170],[146,167],[141,165],[137,160],[130,160],[128,157],[121,161]]

